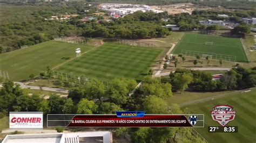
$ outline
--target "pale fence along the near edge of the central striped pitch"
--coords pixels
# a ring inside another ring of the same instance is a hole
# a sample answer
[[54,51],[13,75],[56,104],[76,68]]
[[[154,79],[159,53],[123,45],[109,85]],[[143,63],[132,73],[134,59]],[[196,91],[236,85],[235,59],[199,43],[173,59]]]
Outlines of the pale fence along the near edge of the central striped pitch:
[[[87,84],[89,82],[92,82],[95,80],[95,78],[86,77],[85,75],[75,75],[73,73],[63,73],[60,71],[53,70],[52,71],[52,78],[57,78],[59,80],[63,81],[69,81],[79,84]],[[107,88],[109,88],[109,82],[108,81],[102,81],[101,82],[105,85],[107,85]]]

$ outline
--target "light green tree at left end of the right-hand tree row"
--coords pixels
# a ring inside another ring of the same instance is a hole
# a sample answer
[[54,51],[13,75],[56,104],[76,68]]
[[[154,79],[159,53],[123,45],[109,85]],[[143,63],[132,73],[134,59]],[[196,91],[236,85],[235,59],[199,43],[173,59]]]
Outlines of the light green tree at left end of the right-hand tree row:
[[192,81],[192,76],[190,74],[181,74],[177,73],[174,74],[173,83],[172,85],[177,89],[180,90],[180,94],[187,88],[187,84]]

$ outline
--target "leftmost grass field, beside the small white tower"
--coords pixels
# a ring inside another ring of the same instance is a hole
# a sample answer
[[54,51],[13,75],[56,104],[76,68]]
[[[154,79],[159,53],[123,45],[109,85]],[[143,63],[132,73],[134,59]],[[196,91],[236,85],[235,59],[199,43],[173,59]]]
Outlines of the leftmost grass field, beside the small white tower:
[[7,71],[12,81],[25,80],[30,74],[38,75],[50,65],[75,58],[75,49],[85,52],[91,47],[87,45],[69,44],[67,42],[46,41],[28,48],[0,54],[0,70]]

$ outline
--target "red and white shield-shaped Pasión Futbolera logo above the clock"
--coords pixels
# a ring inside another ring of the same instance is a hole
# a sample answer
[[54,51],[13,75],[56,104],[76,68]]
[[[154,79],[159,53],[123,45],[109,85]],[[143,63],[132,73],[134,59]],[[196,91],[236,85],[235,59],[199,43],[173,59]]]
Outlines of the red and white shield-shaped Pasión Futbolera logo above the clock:
[[212,108],[212,119],[217,121],[221,126],[227,125],[234,119],[235,111],[230,105],[217,105]]

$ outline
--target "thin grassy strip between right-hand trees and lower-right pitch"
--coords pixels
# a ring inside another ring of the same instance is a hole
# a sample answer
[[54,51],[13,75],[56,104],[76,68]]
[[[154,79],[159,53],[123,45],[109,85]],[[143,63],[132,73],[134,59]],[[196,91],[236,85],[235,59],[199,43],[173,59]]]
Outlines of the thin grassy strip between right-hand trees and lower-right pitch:
[[202,98],[207,98],[207,97],[212,97],[212,96],[217,96],[217,95],[222,95],[226,94],[231,91],[219,91],[219,92],[187,92],[184,91],[182,94],[179,94],[177,92],[173,93],[173,97],[170,99],[167,99],[167,103],[172,104],[172,103],[186,103]]

